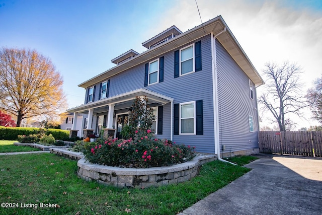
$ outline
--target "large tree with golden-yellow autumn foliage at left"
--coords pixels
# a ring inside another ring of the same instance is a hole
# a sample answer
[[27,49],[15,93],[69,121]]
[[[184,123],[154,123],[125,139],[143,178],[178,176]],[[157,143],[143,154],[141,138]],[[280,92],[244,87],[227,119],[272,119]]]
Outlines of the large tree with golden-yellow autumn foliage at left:
[[66,99],[63,80],[51,60],[35,50],[0,49],[0,109],[25,118],[58,115]]

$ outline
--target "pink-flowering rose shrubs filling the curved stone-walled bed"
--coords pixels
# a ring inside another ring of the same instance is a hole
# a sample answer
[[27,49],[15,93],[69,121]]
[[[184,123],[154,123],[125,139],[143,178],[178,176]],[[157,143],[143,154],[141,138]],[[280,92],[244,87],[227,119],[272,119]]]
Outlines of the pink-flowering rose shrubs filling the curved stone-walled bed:
[[157,139],[153,133],[135,132],[129,139],[99,139],[87,142],[83,153],[94,164],[115,167],[147,168],[180,164],[195,157],[194,147]]

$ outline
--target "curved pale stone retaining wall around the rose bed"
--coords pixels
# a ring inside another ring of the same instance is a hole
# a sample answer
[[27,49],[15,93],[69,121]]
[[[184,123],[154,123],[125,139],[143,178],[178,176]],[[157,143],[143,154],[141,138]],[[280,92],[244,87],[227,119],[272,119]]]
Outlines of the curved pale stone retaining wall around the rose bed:
[[119,168],[91,164],[83,158],[77,162],[78,176],[117,187],[149,187],[188,181],[198,173],[198,166],[216,160],[215,155],[198,156],[192,161],[169,167]]

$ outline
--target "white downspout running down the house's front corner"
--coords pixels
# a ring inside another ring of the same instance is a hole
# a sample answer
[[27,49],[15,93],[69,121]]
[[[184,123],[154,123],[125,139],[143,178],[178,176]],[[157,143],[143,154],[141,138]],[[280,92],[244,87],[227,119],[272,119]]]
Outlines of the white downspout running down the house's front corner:
[[219,111],[218,111],[218,81],[217,81],[217,58],[216,58],[216,37],[226,31],[226,27],[216,35],[211,33],[211,57],[213,59],[212,65],[212,93],[213,93],[213,113],[214,113],[214,140],[215,140],[215,154],[218,161],[226,162],[232,165],[237,165],[220,158],[220,139],[219,139]]

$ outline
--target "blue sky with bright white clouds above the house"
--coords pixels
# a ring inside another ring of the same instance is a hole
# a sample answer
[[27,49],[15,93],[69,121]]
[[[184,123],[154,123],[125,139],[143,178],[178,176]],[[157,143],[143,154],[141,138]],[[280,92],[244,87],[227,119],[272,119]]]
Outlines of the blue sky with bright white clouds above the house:
[[[202,21],[221,15],[261,74],[267,61],[303,67],[305,89],[322,74],[322,1],[197,0]],[[111,68],[111,59],[172,25],[200,25],[195,0],[0,0],[0,47],[32,48],[64,78],[68,106],[84,103],[78,84]],[[263,77],[264,78],[264,77]],[[258,89],[259,93],[261,88]]]

